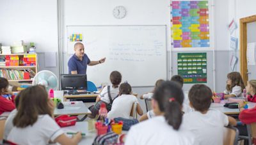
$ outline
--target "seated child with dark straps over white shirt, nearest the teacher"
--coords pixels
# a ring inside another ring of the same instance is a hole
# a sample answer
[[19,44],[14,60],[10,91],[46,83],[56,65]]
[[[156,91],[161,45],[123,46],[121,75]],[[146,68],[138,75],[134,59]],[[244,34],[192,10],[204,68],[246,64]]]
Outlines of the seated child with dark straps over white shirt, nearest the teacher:
[[121,83],[122,75],[118,71],[113,71],[111,72],[109,79],[112,83],[112,86],[104,86],[99,96],[96,98],[96,104],[89,108],[92,112],[92,115],[89,116],[90,118],[95,118],[95,116],[99,114],[100,104],[102,103],[106,104],[109,111],[111,109],[111,104],[113,103],[113,100],[118,97],[118,85]]

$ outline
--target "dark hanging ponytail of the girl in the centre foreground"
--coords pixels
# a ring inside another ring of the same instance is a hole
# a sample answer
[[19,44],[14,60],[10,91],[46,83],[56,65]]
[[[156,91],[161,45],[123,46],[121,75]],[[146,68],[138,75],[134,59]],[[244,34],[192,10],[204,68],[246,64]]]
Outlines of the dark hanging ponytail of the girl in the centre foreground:
[[[174,98],[173,98],[174,99]],[[182,111],[179,102],[170,101],[166,104],[166,111],[164,111],[164,118],[169,125],[173,127],[174,130],[179,130],[180,124],[182,122]]]

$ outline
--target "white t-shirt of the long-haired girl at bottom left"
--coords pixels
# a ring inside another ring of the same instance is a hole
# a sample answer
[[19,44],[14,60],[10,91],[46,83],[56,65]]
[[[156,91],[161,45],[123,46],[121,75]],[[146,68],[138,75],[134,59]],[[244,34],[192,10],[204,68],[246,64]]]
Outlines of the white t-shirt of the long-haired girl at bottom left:
[[17,144],[45,145],[63,133],[59,125],[48,114],[44,114],[39,115],[38,120],[32,126],[13,127],[7,139]]

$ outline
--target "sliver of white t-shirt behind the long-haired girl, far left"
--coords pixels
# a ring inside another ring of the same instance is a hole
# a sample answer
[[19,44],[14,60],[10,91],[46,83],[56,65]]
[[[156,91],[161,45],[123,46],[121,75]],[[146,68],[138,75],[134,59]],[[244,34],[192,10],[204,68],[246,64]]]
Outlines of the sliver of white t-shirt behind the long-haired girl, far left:
[[17,114],[17,109],[14,109],[8,116],[8,118],[5,121],[4,124],[4,139],[7,139],[8,135],[10,134],[12,128],[13,128],[13,118]]

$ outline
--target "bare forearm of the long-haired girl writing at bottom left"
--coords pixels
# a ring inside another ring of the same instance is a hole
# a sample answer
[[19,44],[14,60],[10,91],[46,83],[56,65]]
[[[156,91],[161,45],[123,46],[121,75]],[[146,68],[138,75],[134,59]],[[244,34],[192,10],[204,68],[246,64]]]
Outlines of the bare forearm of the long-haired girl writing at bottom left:
[[77,132],[76,135],[74,135],[71,139],[68,138],[65,134],[61,134],[60,136],[58,136],[54,142],[58,142],[62,145],[69,145],[69,144],[78,144],[79,141],[81,141],[82,139],[82,134],[81,132]]

